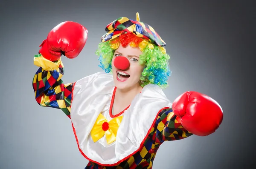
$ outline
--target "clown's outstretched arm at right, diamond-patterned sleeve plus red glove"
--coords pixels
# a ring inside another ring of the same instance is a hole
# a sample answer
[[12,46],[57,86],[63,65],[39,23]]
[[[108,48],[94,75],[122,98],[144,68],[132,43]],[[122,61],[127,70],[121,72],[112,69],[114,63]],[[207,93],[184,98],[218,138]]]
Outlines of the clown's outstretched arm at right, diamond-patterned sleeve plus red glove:
[[180,140],[190,135],[207,136],[218,129],[223,119],[221,106],[211,97],[185,92],[163,109],[156,121],[156,141]]

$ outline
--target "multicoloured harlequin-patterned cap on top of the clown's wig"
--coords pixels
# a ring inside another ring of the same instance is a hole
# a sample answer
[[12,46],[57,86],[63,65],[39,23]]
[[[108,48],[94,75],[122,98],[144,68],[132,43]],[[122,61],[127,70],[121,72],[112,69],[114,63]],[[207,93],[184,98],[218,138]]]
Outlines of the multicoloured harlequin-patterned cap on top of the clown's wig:
[[166,46],[162,38],[154,31],[154,29],[146,23],[140,22],[139,13],[137,12],[137,20],[130,20],[127,17],[119,17],[106,27],[107,33],[102,36],[102,42],[112,40],[119,37],[120,34],[127,32],[133,33],[137,37],[143,37],[157,46]]

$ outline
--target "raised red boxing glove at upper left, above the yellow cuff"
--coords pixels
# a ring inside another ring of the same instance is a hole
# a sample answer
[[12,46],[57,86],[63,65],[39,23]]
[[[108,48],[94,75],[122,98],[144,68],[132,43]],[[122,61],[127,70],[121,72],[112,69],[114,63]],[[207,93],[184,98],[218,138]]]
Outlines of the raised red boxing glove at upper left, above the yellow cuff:
[[79,55],[87,40],[87,29],[79,23],[66,21],[53,28],[39,46],[46,59],[56,61],[64,54],[73,59]]

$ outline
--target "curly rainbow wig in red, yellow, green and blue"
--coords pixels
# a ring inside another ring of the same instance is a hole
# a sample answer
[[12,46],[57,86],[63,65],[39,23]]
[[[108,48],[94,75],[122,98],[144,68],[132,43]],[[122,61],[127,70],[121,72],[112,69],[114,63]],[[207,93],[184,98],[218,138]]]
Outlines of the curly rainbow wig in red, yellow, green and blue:
[[112,72],[111,61],[115,50],[121,44],[131,47],[139,47],[143,54],[140,55],[140,64],[144,64],[145,68],[141,74],[141,86],[147,84],[157,84],[161,88],[167,87],[168,76],[171,71],[169,69],[168,60],[170,56],[166,54],[166,50],[162,46],[156,46],[144,38],[137,37],[133,33],[123,33],[113,40],[99,43],[96,54],[99,56],[99,67],[106,73]]

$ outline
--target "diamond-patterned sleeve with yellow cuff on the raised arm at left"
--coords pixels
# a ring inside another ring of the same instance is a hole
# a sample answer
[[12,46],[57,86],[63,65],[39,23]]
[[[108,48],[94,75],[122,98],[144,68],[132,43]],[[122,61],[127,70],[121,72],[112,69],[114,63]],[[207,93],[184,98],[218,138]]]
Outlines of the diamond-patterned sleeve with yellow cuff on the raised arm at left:
[[34,64],[40,67],[33,78],[35,100],[40,106],[61,109],[70,117],[73,83],[64,84],[61,80],[64,74],[61,60],[52,62],[38,54]]

